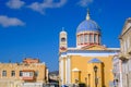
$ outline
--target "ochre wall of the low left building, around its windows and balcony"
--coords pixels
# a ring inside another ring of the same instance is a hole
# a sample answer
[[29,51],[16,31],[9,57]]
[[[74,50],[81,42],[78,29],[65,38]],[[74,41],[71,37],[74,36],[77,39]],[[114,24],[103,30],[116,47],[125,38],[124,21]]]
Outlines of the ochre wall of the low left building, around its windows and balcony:
[[[15,87],[16,84],[24,83],[25,80],[22,79],[20,76],[20,71],[23,70],[33,70],[35,72],[38,71],[38,76],[35,79],[35,83],[46,83],[48,77],[47,69],[45,64],[40,63],[33,63],[33,64],[24,64],[24,63],[0,63],[0,85],[1,86],[9,86]],[[2,76],[2,71],[7,71],[7,76]],[[11,76],[11,72],[15,71],[15,76]],[[34,82],[34,80],[33,80]]]

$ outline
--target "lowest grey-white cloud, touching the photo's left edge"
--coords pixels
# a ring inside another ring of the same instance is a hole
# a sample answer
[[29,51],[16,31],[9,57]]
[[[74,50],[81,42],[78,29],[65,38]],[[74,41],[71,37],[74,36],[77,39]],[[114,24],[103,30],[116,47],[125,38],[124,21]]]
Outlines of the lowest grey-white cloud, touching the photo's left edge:
[[23,26],[24,23],[16,17],[8,17],[5,15],[0,15],[0,25],[2,25],[3,27]]

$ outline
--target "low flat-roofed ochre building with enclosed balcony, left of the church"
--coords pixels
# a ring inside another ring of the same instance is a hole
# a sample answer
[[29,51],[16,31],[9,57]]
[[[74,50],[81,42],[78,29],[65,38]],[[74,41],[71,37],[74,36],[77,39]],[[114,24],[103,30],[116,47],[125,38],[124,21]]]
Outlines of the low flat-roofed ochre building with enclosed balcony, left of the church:
[[48,70],[38,59],[22,63],[0,63],[0,87],[43,87],[48,82]]

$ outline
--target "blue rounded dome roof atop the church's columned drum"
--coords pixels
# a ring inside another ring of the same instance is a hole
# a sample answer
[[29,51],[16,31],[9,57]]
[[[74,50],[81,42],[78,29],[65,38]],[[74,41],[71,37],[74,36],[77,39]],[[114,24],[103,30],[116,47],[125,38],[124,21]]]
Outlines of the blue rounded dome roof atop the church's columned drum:
[[96,22],[92,20],[85,20],[83,21],[79,26],[76,33],[80,32],[100,32],[99,26],[96,24]]

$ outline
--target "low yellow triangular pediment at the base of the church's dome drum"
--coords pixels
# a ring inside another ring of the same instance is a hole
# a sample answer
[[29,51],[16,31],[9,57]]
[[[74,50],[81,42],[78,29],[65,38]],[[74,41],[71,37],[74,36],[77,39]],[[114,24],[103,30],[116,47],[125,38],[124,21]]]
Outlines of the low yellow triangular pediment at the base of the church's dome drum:
[[107,50],[106,47],[99,46],[99,45],[85,46],[82,49],[83,50]]

